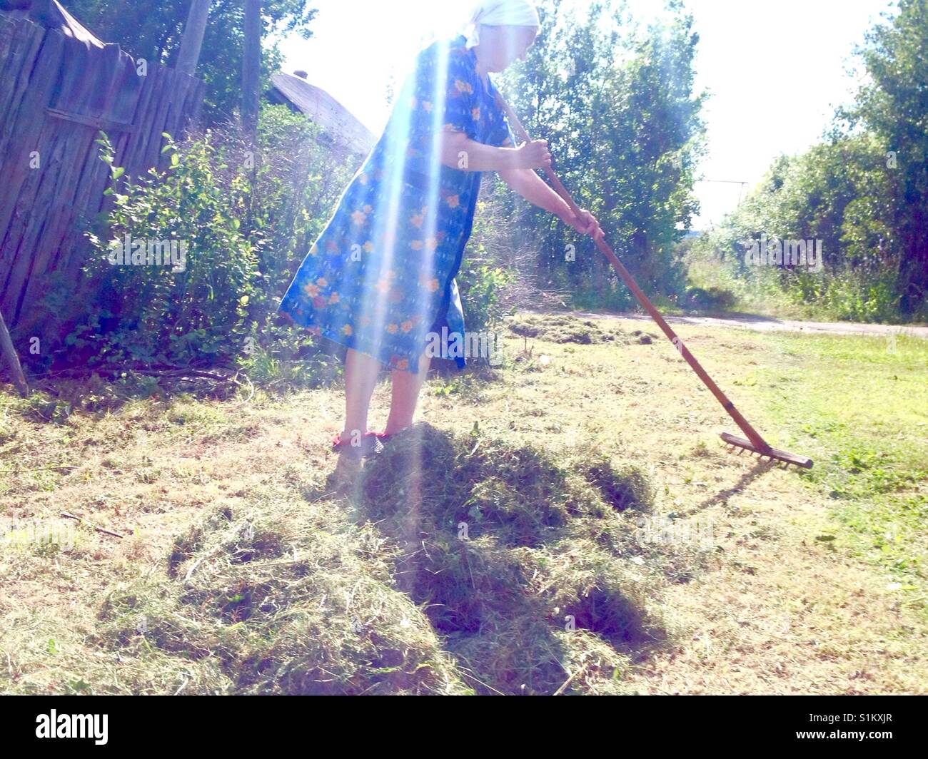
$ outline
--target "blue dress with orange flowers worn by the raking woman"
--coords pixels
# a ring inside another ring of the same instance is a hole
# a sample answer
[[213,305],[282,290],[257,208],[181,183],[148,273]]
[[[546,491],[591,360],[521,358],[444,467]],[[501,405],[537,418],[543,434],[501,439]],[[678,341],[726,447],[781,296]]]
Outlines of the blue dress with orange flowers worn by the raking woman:
[[[455,280],[481,174],[439,160],[443,131],[511,147],[509,123],[484,87],[464,37],[419,54],[390,122],[345,190],[279,310],[316,335],[416,372],[430,333],[464,338]],[[456,358],[458,367],[463,358]]]

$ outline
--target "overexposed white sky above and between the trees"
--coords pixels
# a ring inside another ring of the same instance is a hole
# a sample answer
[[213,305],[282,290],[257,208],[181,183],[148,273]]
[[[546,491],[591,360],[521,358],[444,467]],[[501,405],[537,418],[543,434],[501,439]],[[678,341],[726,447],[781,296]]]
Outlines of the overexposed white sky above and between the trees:
[[[578,12],[585,0],[561,0]],[[375,134],[390,115],[388,88],[399,86],[419,48],[458,32],[471,0],[315,0],[310,40],[281,44],[284,71],[303,70]],[[629,0],[647,23],[663,0]],[[696,185],[702,205],[693,229],[706,229],[737,206],[777,156],[814,145],[834,108],[853,99],[855,45],[890,9],[888,0],[687,0],[700,44],[697,88],[708,153]],[[544,136],[544,135],[539,135]],[[746,183],[744,188],[740,184]]]

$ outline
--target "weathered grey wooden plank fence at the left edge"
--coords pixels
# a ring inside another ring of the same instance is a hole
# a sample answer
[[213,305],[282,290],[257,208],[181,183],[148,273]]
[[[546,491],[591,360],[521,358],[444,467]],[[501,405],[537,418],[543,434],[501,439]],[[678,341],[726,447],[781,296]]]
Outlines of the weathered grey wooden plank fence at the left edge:
[[76,292],[84,232],[109,207],[98,132],[139,176],[163,165],[161,134],[200,115],[200,80],[95,43],[0,13],[0,312],[20,335],[60,316],[43,296],[53,281]]

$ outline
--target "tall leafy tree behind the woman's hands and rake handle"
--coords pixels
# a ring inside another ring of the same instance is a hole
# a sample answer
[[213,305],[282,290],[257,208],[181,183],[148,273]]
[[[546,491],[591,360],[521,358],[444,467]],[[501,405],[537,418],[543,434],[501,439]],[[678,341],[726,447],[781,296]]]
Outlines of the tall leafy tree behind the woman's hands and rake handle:
[[[670,2],[670,20],[641,31],[609,0],[586,17],[553,0],[542,12],[539,39],[504,89],[529,132],[551,142],[565,184],[599,217],[632,273],[652,291],[681,289],[675,250],[698,211],[692,185],[704,133],[691,17]],[[569,284],[579,301],[595,291],[590,305],[628,302],[591,242],[534,209],[521,220],[523,236],[541,238],[543,281]]]

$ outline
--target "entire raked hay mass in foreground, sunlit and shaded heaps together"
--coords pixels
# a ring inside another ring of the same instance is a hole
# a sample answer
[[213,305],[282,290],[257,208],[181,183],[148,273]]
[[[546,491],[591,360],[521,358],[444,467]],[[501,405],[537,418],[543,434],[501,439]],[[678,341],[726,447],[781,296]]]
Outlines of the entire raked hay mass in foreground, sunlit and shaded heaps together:
[[649,500],[607,460],[419,425],[337,499],[213,513],[110,594],[99,644],[141,692],[166,688],[151,672],[188,693],[624,692],[664,637],[634,540]]

